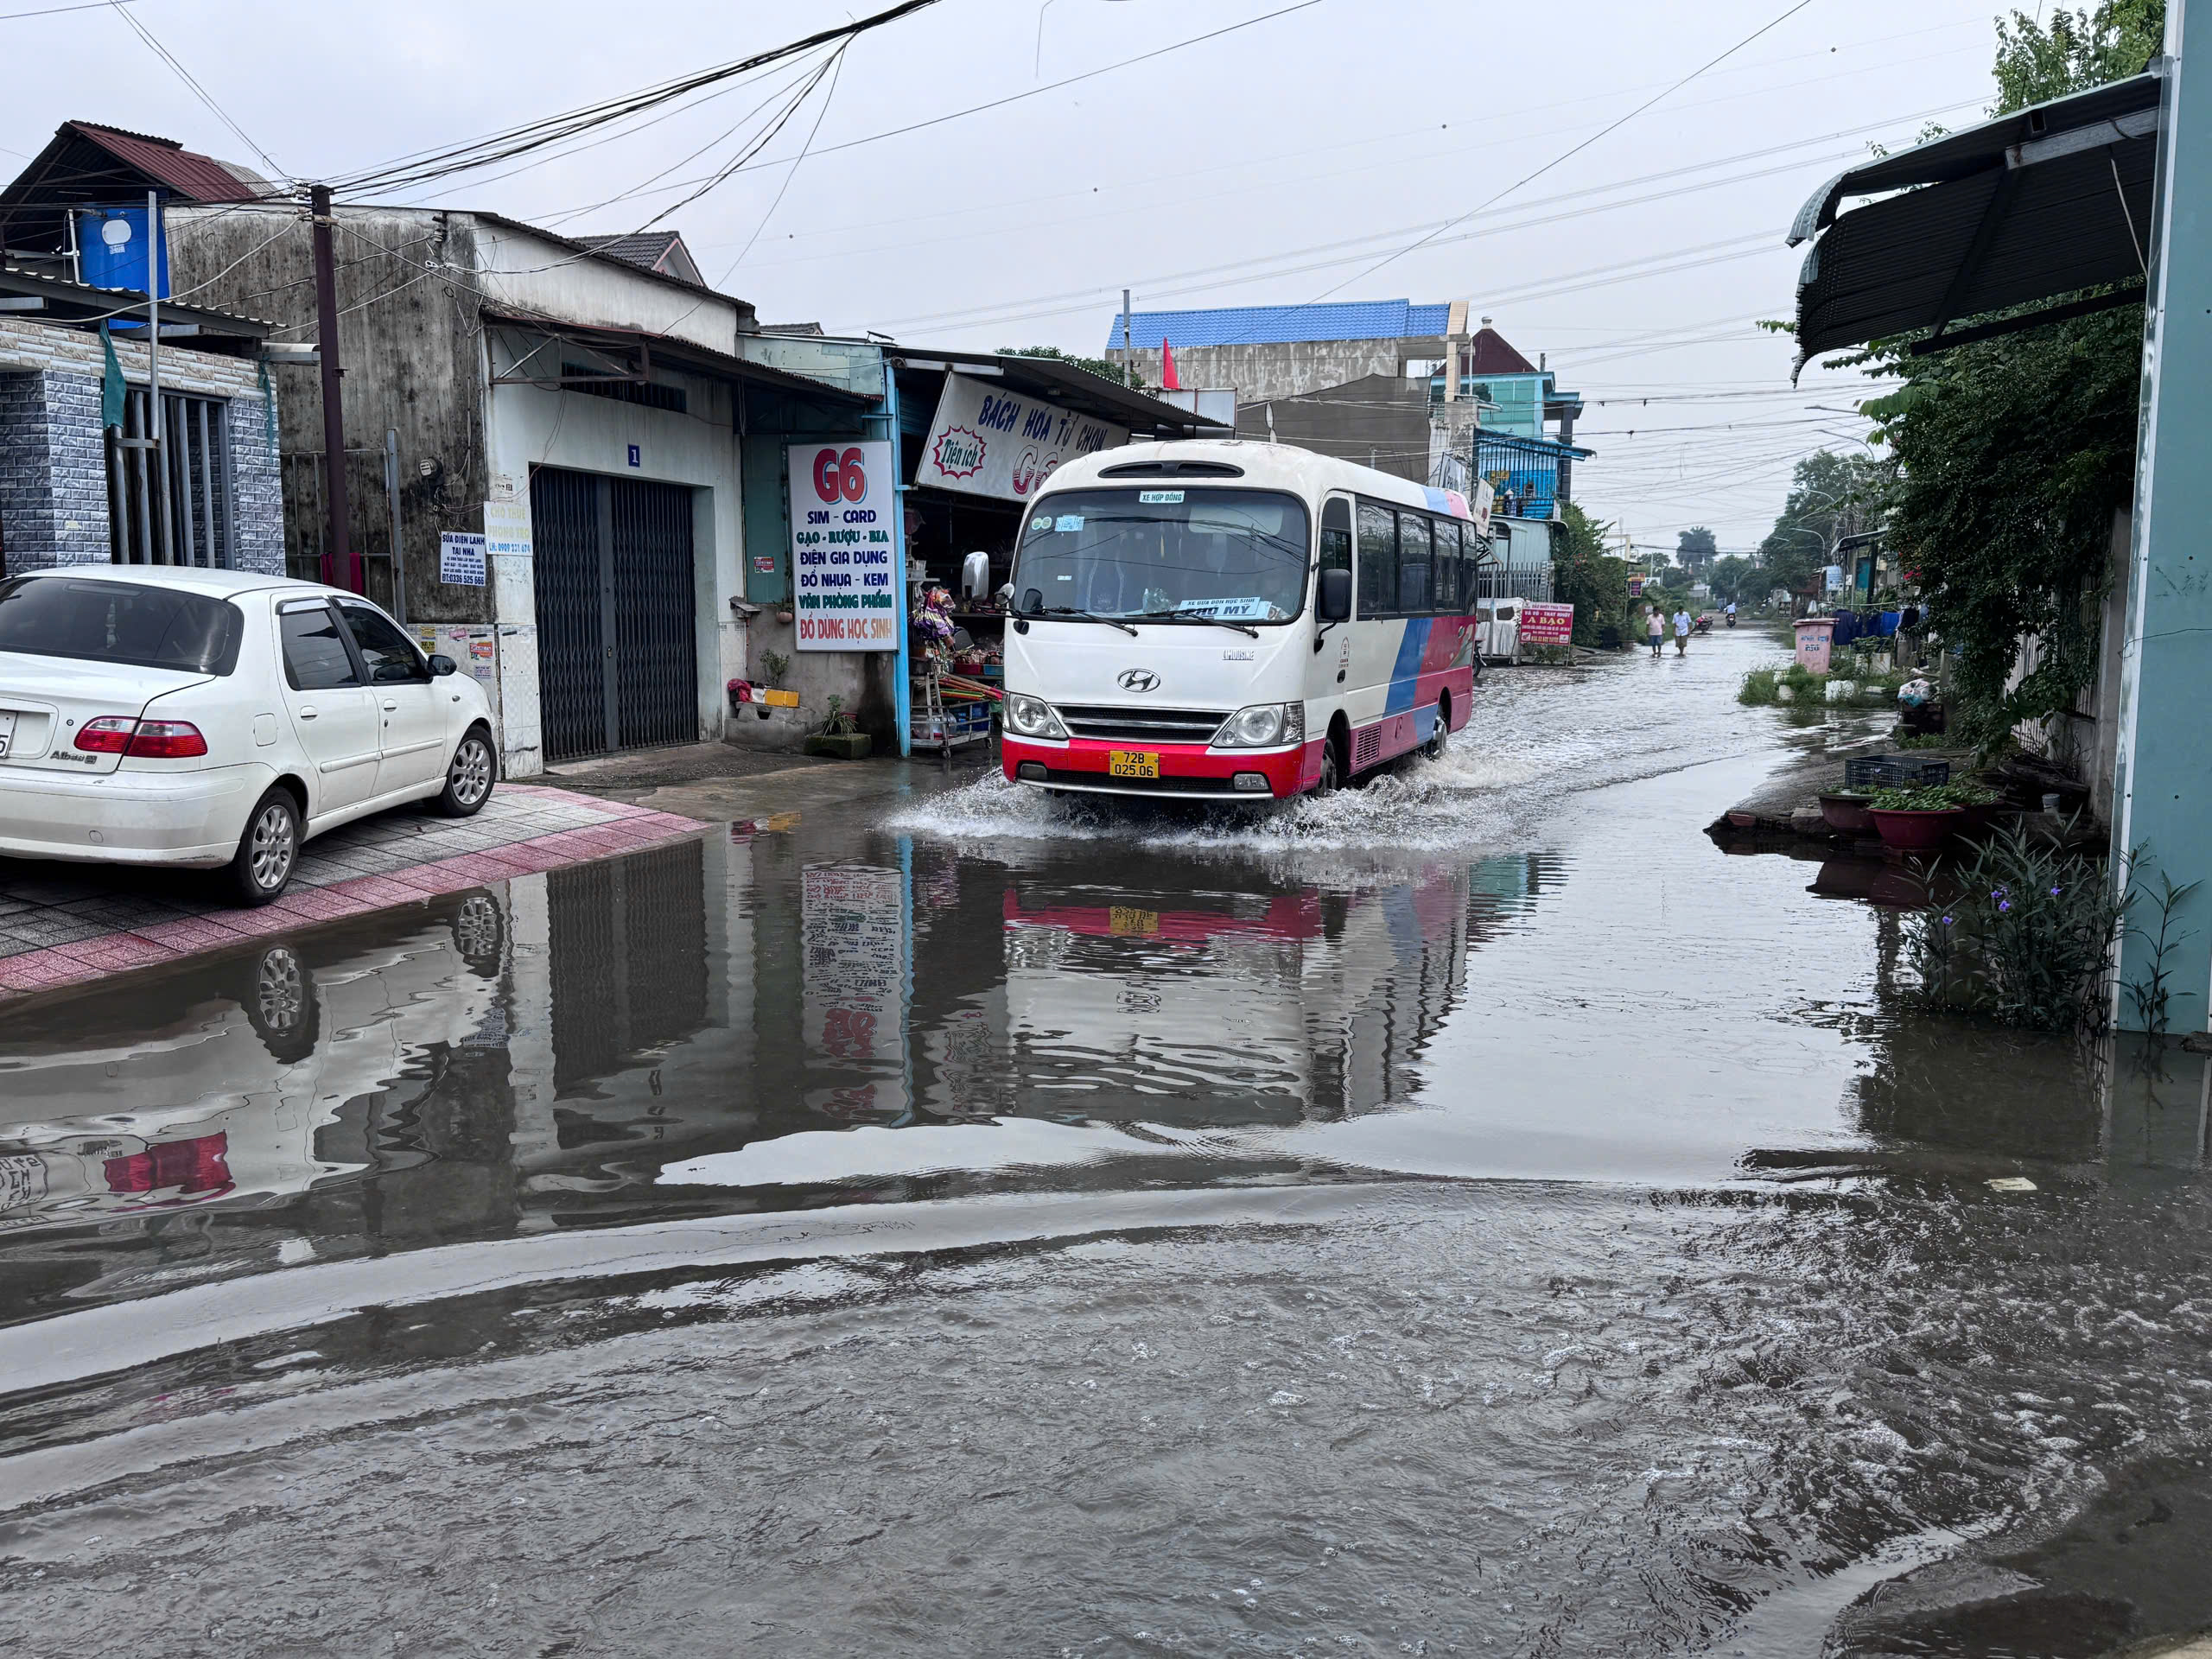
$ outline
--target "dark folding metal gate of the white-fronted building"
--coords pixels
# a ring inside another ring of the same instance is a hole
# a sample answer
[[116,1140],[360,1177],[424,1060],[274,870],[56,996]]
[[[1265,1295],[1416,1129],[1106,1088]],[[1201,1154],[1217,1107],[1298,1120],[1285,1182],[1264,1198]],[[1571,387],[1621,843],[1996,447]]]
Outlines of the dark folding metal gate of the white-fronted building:
[[695,741],[690,491],[538,467],[531,542],[546,759]]

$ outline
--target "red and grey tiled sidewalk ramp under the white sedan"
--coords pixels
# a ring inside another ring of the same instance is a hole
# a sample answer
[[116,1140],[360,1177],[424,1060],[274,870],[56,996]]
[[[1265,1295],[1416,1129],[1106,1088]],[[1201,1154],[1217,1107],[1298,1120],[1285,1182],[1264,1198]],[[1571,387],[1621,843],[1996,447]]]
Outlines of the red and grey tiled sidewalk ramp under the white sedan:
[[502,783],[473,818],[400,807],[316,836],[292,889],[265,909],[228,907],[204,872],[0,858],[0,1002],[697,830],[668,812]]

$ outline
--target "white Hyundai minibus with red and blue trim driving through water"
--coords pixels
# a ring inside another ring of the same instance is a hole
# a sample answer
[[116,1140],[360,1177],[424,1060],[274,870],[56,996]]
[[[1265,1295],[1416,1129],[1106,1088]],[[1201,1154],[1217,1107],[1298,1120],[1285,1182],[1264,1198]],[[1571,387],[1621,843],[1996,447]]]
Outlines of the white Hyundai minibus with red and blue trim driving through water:
[[1480,555],[1455,491],[1292,445],[1073,460],[1015,551],[1006,776],[1276,801],[1442,754],[1475,681]]

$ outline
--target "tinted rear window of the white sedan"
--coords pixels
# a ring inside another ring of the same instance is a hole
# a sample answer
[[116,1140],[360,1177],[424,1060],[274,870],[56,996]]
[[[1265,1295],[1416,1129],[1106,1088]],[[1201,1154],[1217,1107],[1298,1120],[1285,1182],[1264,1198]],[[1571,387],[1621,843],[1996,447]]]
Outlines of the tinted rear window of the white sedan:
[[228,675],[246,617],[228,599],[135,582],[20,575],[0,582],[0,650],[124,668]]

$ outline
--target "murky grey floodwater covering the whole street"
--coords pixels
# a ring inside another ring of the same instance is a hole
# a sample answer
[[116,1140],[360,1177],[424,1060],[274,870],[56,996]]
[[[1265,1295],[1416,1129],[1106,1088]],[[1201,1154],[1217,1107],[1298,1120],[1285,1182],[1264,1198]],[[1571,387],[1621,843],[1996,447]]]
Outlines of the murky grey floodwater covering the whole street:
[[2212,1621],[2208,1062],[1916,1020],[1719,854],[1772,650],[1256,821],[768,781],[0,1013],[0,1652]]

